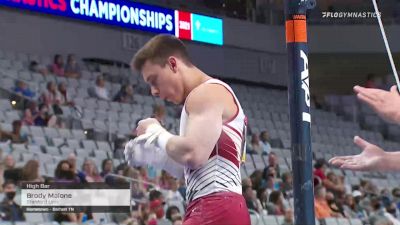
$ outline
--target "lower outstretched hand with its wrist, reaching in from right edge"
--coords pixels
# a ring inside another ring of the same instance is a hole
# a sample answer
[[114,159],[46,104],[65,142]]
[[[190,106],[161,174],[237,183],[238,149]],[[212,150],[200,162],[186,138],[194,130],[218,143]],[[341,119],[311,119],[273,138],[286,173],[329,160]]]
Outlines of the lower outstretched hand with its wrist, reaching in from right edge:
[[373,145],[364,139],[356,136],[354,143],[362,152],[358,155],[337,156],[329,160],[329,163],[341,169],[361,171],[399,171],[400,151],[385,152],[380,147]]

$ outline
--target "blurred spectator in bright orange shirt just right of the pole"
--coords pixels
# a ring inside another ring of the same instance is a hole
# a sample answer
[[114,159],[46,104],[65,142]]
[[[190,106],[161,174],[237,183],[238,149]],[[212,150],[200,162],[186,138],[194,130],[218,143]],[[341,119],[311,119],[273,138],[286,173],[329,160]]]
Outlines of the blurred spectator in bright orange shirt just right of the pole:
[[326,200],[326,189],[322,185],[318,185],[314,190],[314,206],[315,217],[317,219],[325,219],[328,217],[339,217],[339,214],[332,212]]

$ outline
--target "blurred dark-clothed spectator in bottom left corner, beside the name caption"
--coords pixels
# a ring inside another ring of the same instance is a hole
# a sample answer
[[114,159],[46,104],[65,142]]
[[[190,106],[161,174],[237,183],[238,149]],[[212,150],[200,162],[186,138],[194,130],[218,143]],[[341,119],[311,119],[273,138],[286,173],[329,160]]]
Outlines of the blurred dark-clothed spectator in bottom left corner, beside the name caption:
[[21,207],[15,203],[16,194],[15,184],[12,181],[6,181],[3,184],[5,198],[0,203],[0,216],[3,221],[25,221],[25,215]]

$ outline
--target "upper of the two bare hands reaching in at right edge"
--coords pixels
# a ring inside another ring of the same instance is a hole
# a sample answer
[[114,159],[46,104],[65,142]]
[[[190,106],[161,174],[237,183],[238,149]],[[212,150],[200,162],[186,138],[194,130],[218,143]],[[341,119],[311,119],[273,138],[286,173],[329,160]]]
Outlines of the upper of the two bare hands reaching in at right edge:
[[383,119],[400,124],[400,95],[396,86],[392,86],[390,91],[355,86],[354,91],[358,99],[367,103]]

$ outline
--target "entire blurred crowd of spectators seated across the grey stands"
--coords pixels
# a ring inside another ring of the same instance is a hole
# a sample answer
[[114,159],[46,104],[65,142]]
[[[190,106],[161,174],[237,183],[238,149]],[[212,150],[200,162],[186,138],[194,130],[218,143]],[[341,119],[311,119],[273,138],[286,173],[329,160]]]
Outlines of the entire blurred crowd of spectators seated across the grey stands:
[[[32,61],[29,69],[43,76],[61,76],[77,79],[81,77],[81,66],[76,56],[56,55],[51,65],[40,65]],[[368,85],[377,85],[375,77],[369,76]],[[105,74],[97,76],[87,91],[89,96],[99,100],[117,101],[134,104],[135,86],[124,84],[111,95],[107,89]],[[375,87],[375,86],[374,86]],[[63,82],[49,81],[44,90],[32,90],[23,80],[18,80],[12,92],[27,101],[22,104],[23,118],[12,123],[12,131],[0,127],[0,141],[13,144],[28,144],[32,137],[24,134],[22,126],[47,126],[63,128],[63,106],[74,107],[69,89]],[[155,105],[152,117],[167,129],[168,111],[162,105]],[[176,113],[179,114],[178,112]],[[173,115],[176,117],[176,115]],[[251,128],[251,127],[250,127]],[[282,170],[280,156],[274,152],[273,140],[268,130],[260,133],[249,131],[247,153],[267,157],[267,166],[255,170],[248,177],[242,177],[242,194],[250,213],[284,217],[282,225],[293,224],[293,178],[290,171]],[[130,134],[135,136],[134,131]],[[39,159],[28,160],[23,166],[16,166],[16,160],[9,152],[0,152],[0,218],[6,221],[24,221],[26,217],[18,200],[20,184],[30,182],[91,183],[104,182],[115,184],[127,182],[125,179],[110,176],[118,174],[135,180],[132,182],[131,197],[133,211],[129,214],[113,213],[111,221],[123,224],[182,224],[185,213],[185,184],[165,171],[155,171],[152,167],[132,168],[124,163],[114,165],[111,159],[104,159],[100,168],[91,158],[78,165],[74,153],[60,160],[54,169],[54,176],[40,174]],[[338,174],[330,168],[324,159],[314,160],[314,205],[318,220],[326,218],[358,218],[364,224],[389,225],[400,224],[400,188],[393,190],[378,188],[368,180],[360,180],[358,185],[349,185],[343,173]],[[83,213],[56,213],[55,221],[85,222],[93,219],[93,213],[87,209]]]

